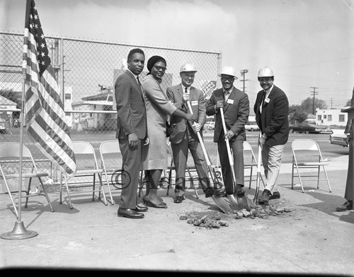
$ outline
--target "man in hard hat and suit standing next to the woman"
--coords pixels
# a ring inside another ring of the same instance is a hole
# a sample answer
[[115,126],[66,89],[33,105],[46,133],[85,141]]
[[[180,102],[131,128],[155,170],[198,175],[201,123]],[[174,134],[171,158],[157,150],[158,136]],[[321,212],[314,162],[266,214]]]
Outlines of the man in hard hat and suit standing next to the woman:
[[[176,198],[174,203],[181,203],[185,199],[185,167],[188,149],[193,156],[205,197],[210,197],[214,194],[214,187],[210,187],[210,179],[207,176],[207,163],[202,152],[202,146],[196,134],[196,132],[202,130],[202,126],[207,119],[205,115],[205,98],[202,95],[202,90],[192,86],[196,72],[194,64],[189,62],[183,64],[180,69],[181,83],[166,90],[169,100],[183,112],[190,112],[188,108],[189,101],[193,114],[197,117],[197,121],[193,124],[193,122],[187,122],[181,117],[171,116],[170,141],[173,163],[176,167]],[[202,132],[200,134],[202,135]]]

